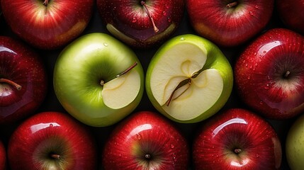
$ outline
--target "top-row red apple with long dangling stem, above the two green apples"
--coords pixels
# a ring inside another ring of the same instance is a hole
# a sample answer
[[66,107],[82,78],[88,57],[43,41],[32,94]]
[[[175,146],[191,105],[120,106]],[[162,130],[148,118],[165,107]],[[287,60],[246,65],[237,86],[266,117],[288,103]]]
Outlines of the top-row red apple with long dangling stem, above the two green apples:
[[98,11],[107,29],[114,33],[115,28],[120,32],[115,31],[116,38],[141,48],[152,47],[169,38],[178,28],[185,11],[184,0],[145,0],[145,4],[159,29],[157,33],[140,1],[97,0]]

